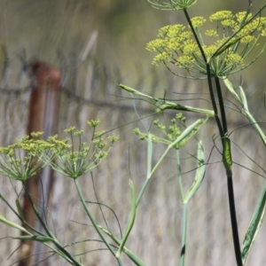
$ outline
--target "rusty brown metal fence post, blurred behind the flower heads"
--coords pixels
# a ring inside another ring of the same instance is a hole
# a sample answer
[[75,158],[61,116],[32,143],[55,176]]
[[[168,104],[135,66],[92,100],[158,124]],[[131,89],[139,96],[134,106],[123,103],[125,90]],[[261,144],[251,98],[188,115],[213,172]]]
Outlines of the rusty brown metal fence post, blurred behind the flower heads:
[[[42,61],[35,61],[29,65],[31,96],[29,101],[27,135],[33,131],[43,131],[43,138],[57,133],[59,124],[59,103],[60,103],[60,82],[61,73],[58,68],[49,66]],[[45,168],[36,176],[27,180],[27,190],[31,194],[38,207],[39,213],[46,221],[45,210],[49,205],[52,190],[53,172],[51,168]],[[30,207],[26,195],[23,198],[23,215],[27,223],[39,231],[43,228],[36,221],[35,214]],[[20,248],[19,266],[27,266],[33,262],[40,262],[38,265],[46,265],[42,243],[22,240]]]

